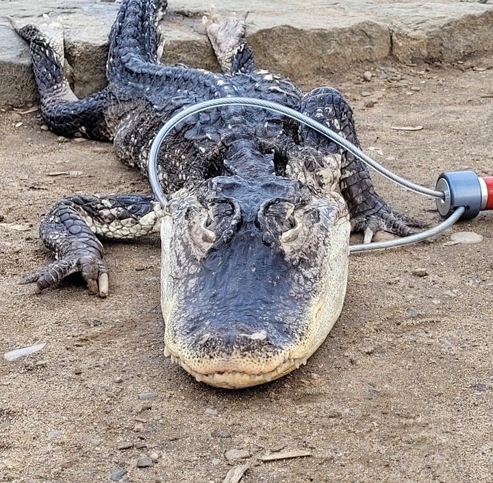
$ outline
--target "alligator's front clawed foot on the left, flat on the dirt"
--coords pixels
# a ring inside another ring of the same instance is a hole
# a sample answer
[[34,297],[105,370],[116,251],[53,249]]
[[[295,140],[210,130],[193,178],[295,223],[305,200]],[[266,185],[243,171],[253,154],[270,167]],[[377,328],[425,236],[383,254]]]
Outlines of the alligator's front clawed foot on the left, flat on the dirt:
[[28,273],[19,284],[34,284],[34,291],[41,293],[61,282],[72,273],[80,273],[88,284],[89,293],[106,297],[108,295],[108,268],[103,260],[94,256],[81,256],[68,260],[57,260],[46,267]]

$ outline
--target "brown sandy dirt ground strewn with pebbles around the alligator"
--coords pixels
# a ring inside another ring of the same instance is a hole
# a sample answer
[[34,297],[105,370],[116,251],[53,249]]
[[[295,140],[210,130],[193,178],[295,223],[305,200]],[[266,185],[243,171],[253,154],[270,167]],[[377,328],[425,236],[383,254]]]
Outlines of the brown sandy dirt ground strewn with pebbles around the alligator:
[[[304,87],[340,88],[366,151],[433,186],[442,171],[493,174],[492,67],[366,65]],[[106,245],[108,299],[73,280],[42,295],[17,284],[50,260],[37,225],[56,199],[148,191],[111,145],[1,112],[0,169],[0,352],[47,343],[0,360],[1,482],[217,483],[242,464],[243,483],[492,481],[491,212],[452,230],[481,243],[448,233],[351,256],[342,315],[307,366],[231,392],[162,354],[157,237]],[[439,221],[429,199],[376,184],[396,208]],[[261,459],[294,449],[311,456]]]

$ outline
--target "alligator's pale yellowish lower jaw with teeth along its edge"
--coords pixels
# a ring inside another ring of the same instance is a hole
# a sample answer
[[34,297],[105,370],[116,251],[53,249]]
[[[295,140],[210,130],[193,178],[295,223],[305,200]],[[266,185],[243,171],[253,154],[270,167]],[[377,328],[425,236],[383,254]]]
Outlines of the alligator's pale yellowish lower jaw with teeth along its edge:
[[270,382],[278,377],[282,377],[294,369],[298,369],[301,365],[304,365],[307,362],[307,357],[299,359],[288,358],[286,362],[280,364],[274,371],[260,374],[249,374],[239,371],[223,371],[203,374],[194,371],[188,364],[186,364],[186,362],[181,360],[179,356],[171,354],[168,347],[164,348],[164,356],[169,356],[171,362],[181,365],[181,367],[183,367],[190,375],[195,377],[197,381],[209,384],[210,386],[225,389],[242,389],[250,386],[257,386],[257,384],[264,384],[265,382]]

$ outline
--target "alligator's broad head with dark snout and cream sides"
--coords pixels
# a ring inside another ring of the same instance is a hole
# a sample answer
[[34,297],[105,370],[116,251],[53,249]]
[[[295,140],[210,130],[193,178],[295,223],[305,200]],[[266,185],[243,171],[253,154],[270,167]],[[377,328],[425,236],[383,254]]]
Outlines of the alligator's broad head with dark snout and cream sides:
[[161,229],[165,355],[226,388],[304,364],[342,309],[349,227],[340,195],[294,179],[181,190]]

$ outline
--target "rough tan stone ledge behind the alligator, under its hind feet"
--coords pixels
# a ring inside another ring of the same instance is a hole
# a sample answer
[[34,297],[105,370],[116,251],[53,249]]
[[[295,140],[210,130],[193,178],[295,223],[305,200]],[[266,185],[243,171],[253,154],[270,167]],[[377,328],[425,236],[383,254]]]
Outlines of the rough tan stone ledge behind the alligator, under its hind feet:
[[[233,10],[230,0],[214,4],[222,14]],[[484,3],[236,0],[233,5],[237,12],[251,12],[248,34],[257,64],[294,80],[328,76],[351,62],[389,55],[400,62],[453,62],[493,51],[493,5]],[[170,0],[164,18],[168,62],[218,69],[201,25],[209,6],[200,0]],[[107,38],[117,10],[117,3],[96,0],[1,1],[0,106],[36,100],[27,45],[11,29],[8,16],[19,23],[36,23],[42,14],[60,17],[71,82],[84,97],[105,83]]]

